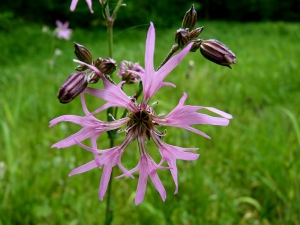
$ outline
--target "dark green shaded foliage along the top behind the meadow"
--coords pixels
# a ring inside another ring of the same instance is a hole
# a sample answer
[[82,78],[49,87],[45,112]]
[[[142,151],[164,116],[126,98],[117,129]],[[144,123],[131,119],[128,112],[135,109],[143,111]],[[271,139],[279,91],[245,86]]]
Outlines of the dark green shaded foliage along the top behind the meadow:
[[[2,12],[12,12],[15,17],[21,17],[50,26],[55,25],[55,20],[70,21],[71,27],[98,27],[103,24],[102,9],[99,1],[92,1],[94,14],[91,14],[86,2],[79,0],[76,13],[70,11],[70,1],[36,1],[15,0],[4,1],[0,5]],[[124,0],[126,7],[121,7],[116,26],[128,28],[148,23],[149,20],[156,27],[170,27],[174,21],[181,21],[184,12],[192,4],[198,12],[199,19],[231,20],[231,21],[299,21],[300,4],[297,0]],[[109,0],[111,9],[117,1]],[[26,10],[24,10],[26,9]],[[1,17],[1,15],[0,15]],[[1,21],[1,19],[0,19]],[[1,25],[0,25],[1,27]]]

